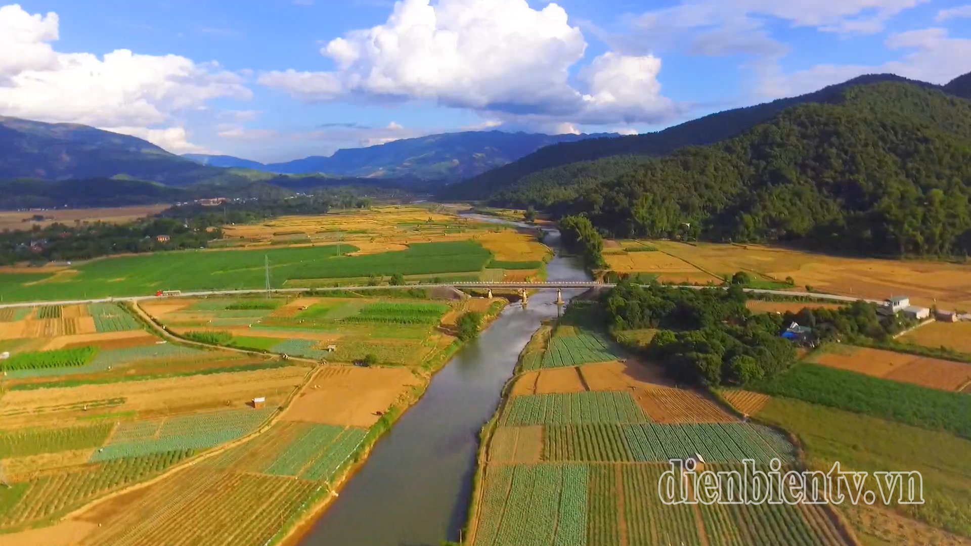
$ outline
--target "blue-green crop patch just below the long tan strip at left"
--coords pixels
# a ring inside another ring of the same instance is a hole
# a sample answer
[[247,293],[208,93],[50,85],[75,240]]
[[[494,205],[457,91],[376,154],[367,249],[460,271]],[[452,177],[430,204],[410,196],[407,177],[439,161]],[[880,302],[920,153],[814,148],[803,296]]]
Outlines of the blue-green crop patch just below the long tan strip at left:
[[[208,449],[250,433],[275,410],[224,410],[184,417],[151,420],[157,428],[142,422],[123,423],[103,448],[94,452],[92,462],[140,457],[167,451]],[[133,430],[134,428],[134,430]]]

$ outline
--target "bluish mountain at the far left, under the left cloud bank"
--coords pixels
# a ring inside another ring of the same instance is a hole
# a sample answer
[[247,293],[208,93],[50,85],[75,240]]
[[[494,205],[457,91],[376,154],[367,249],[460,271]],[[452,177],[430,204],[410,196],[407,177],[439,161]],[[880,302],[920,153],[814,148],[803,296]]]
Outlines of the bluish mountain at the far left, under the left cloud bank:
[[0,117],[0,180],[120,176],[184,186],[221,173],[140,138],[75,123]]

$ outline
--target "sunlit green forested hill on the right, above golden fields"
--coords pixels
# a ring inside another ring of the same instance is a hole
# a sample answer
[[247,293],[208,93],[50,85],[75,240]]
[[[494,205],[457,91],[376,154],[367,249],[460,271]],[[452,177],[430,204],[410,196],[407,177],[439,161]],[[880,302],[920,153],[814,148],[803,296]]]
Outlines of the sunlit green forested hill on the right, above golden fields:
[[971,101],[887,83],[841,95],[717,145],[644,160],[550,208],[586,213],[619,237],[971,253]]

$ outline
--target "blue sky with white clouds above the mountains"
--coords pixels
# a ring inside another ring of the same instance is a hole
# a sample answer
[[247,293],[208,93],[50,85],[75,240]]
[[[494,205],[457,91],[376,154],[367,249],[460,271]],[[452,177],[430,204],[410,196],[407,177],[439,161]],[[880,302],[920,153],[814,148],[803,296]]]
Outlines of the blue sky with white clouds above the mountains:
[[968,71],[968,0],[0,0],[0,115],[264,161]]

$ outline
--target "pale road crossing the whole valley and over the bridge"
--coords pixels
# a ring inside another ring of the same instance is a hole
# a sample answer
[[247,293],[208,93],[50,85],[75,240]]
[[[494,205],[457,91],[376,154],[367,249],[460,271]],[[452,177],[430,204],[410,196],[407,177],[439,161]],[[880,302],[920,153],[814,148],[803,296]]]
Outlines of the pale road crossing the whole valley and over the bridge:
[[[544,283],[487,283],[487,282],[468,282],[468,283],[428,283],[419,285],[399,285],[399,286],[379,286],[379,287],[321,287],[316,289],[273,289],[273,293],[302,293],[311,290],[315,291],[339,291],[339,290],[394,290],[394,289],[436,289],[436,288],[455,288],[455,289],[527,289],[527,290],[557,290],[557,289],[591,289],[591,288],[614,288],[616,285],[613,283],[597,283],[595,281],[550,281]],[[695,285],[672,285],[673,287],[683,288],[683,289],[694,289],[701,290],[709,287],[699,287]],[[804,291],[788,291],[788,290],[764,290],[764,289],[744,289],[749,293],[754,294],[768,294],[768,295],[783,295],[789,297],[812,297],[816,299],[825,299],[829,301],[839,301],[839,302],[853,302],[853,301],[865,301],[867,303],[883,303],[880,299],[864,299],[859,297],[853,297],[848,295],[838,295],[832,293],[820,293],[820,292],[804,292]],[[254,290],[202,290],[202,291],[184,291],[179,294],[179,296],[156,296],[152,295],[134,295],[134,296],[123,296],[123,297],[102,297],[102,298],[92,298],[92,299],[64,299],[59,301],[29,301],[29,302],[18,302],[18,303],[5,303],[0,304],[0,309],[7,307],[32,307],[34,305],[74,305],[79,303],[104,303],[110,301],[145,301],[150,299],[160,299],[163,297],[200,297],[207,295],[243,295],[243,294],[254,294],[254,293],[266,293],[265,289],[254,289]]]

